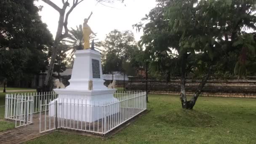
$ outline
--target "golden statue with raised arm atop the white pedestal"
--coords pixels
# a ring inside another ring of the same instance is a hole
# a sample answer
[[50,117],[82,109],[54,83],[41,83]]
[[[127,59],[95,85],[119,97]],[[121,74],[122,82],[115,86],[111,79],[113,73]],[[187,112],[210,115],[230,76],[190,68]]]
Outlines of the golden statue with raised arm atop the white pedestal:
[[87,24],[92,14],[93,12],[91,12],[88,19],[84,19],[83,23],[83,38],[85,42],[83,46],[85,50],[90,48],[90,35],[93,34],[96,36],[96,34],[91,30],[91,27],[89,27]]

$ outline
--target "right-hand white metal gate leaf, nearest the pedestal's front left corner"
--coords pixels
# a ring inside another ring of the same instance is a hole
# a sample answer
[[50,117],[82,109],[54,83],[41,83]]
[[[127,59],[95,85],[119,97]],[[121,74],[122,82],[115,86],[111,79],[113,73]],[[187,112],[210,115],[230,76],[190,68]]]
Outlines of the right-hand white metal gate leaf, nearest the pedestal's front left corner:
[[[57,100],[47,102],[40,100],[39,107],[39,132],[43,133],[58,128]],[[53,112],[53,115],[50,115]]]

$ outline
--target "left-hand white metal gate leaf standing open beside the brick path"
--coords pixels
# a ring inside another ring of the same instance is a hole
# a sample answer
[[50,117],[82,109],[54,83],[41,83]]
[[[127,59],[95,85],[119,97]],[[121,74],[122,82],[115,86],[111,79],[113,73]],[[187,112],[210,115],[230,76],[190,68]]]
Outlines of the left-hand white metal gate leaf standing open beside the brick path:
[[32,96],[7,94],[5,96],[5,118],[15,120],[15,127],[32,123],[34,100]]

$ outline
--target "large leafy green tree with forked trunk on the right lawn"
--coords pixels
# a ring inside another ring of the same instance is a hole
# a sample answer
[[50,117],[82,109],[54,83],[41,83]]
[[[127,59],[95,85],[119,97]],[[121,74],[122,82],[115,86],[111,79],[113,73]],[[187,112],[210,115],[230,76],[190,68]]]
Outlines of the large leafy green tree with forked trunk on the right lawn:
[[[158,5],[142,21],[144,35],[140,44],[146,47],[152,63],[163,69],[178,66],[181,76],[181,103],[192,109],[210,75],[217,70],[226,72],[225,61],[236,59],[237,73],[243,73],[247,64],[254,64],[256,30],[254,0],[157,0]],[[138,30],[142,22],[135,24]],[[177,51],[177,55],[172,54]],[[252,54],[253,53],[253,54]],[[172,67],[171,67],[172,66]],[[232,65],[231,65],[232,67]],[[228,69],[230,72],[230,69]],[[191,100],[185,91],[186,75],[203,76]]]

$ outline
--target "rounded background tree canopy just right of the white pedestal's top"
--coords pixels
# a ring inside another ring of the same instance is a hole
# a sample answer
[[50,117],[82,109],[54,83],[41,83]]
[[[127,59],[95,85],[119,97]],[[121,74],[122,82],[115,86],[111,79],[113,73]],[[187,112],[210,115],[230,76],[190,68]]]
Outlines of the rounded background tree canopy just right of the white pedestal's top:
[[106,39],[101,42],[103,49],[103,71],[125,71],[135,75],[136,56],[142,51],[135,42],[131,31],[120,32],[117,29],[109,32]]

